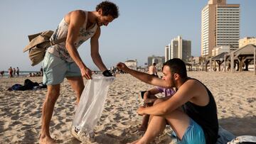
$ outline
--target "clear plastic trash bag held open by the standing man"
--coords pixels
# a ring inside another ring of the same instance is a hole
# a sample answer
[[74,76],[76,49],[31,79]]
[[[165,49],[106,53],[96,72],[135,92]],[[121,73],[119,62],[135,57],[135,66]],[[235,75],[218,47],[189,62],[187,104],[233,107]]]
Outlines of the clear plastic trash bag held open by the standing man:
[[85,85],[71,128],[71,134],[78,140],[82,142],[94,141],[93,128],[100,119],[107,91],[112,82],[114,82],[114,77],[94,74]]

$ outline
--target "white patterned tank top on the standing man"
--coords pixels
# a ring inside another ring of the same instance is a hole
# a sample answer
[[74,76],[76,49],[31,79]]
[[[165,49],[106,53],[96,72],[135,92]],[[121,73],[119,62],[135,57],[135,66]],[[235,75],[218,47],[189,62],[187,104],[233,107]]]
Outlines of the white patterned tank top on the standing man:
[[[78,39],[74,43],[76,49],[78,49],[78,47],[82,43],[84,43],[86,40],[88,40],[89,38],[92,38],[92,36],[95,35],[95,32],[97,31],[96,23],[95,23],[95,26],[92,26],[92,28],[88,30],[86,29],[87,18],[88,18],[88,12],[85,11],[85,24],[80,28]],[[67,37],[67,35],[68,35],[68,23],[66,23],[65,19],[63,18],[63,20],[60,21],[60,24],[58,25],[53,35],[50,37],[50,40],[58,40],[60,38],[65,38]],[[74,62],[74,60],[70,57],[68,50],[65,48],[65,42],[50,46],[47,49],[47,52],[50,52],[53,55],[60,57],[62,60],[65,60],[67,62]]]

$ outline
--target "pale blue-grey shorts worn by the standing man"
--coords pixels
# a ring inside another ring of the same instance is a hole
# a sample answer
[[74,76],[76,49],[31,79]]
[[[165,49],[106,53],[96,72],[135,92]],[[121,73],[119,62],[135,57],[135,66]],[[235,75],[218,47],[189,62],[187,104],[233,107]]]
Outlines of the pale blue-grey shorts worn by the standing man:
[[55,85],[63,82],[65,77],[80,77],[81,72],[75,62],[66,62],[50,52],[43,59],[43,84]]

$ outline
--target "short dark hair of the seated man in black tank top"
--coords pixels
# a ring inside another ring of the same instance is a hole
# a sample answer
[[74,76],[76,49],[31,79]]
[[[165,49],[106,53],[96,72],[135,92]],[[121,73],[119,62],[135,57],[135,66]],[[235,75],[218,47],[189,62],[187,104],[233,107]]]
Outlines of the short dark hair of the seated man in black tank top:
[[164,62],[164,66],[165,65],[170,67],[172,74],[177,73],[180,75],[181,78],[188,77],[186,72],[186,65],[185,65],[185,62],[183,62],[183,60],[178,58],[173,58],[171,60]]

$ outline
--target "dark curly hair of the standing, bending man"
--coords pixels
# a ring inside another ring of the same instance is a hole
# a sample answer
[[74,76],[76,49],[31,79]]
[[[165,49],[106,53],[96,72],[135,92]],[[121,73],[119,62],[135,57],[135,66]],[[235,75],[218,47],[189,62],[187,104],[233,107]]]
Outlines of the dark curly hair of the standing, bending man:
[[113,18],[118,18],[119,11],[118,6],[110,1],[102,1],[96,6],[96,11],[102,9],[102,16],[112,16]]

